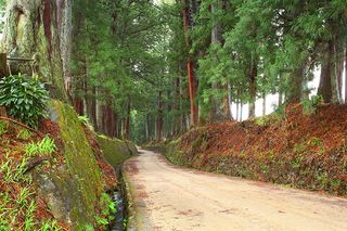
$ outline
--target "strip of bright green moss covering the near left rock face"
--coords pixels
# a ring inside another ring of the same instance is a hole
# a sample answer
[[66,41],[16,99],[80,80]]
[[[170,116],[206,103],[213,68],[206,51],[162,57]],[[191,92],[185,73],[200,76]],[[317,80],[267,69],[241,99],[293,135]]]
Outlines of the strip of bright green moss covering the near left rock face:
[[[103,190],[102,172],[75,111],[57,101],[52,102],[52,106],[59,115],[67,171],[81,194],[82,205],[72,208],[72,222],[79,230],[88,223],[94,223],[95,205]],[[79,203],[74,201],[72,205]]]

